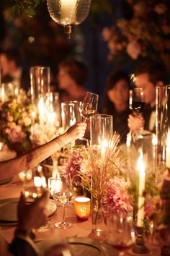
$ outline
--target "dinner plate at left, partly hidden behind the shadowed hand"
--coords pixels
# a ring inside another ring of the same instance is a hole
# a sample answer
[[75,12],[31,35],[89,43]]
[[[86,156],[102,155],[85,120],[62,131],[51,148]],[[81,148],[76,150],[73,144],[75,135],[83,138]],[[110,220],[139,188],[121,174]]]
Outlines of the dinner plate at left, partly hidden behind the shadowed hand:
[[[0,200],[0,222],[17,222],[17,205],[19,198],[6,198]],[[32,203],[32,200],[27,200],[27,204]],[[47,215],[52,216],[57,210],[57,205],[53,200],[50,200],[47,205]]]

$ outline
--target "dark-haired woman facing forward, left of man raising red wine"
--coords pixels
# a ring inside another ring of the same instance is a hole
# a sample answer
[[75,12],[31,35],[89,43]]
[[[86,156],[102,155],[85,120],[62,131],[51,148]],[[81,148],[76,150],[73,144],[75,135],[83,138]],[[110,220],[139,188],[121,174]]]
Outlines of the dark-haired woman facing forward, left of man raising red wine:
[[128,129],[130,80],[122,71],[112,72],[106,82],[106,98],[102,114],[113,116],[113,130],[120,135],[120,143],[126,142]]

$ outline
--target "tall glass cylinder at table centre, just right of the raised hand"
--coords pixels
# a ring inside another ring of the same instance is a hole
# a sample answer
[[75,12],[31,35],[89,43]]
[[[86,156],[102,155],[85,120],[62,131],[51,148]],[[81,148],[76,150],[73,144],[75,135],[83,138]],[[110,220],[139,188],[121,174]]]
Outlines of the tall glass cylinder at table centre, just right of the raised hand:
[[112,116],[94,115],[90,117],[91,135],[91,220],[92,232],[101,236],[106,229],[106,213],[103,204],[104,184],[106,176],[104,161],[106,151],[112,139]]

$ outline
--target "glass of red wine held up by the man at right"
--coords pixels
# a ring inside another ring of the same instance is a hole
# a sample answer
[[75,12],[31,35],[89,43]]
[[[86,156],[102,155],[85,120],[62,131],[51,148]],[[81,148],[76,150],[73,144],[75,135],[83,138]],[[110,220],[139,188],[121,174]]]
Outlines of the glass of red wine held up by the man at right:
[[133,111],[133,114],[142,116],[146,108],[143,88],[130,90],[129,107]]

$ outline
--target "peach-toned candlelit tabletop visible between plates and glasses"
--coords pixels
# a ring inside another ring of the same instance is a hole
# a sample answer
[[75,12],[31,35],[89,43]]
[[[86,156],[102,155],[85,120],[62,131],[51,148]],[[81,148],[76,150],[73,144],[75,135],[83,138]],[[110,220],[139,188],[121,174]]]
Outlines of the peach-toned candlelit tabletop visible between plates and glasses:
[[[0,209],[1,209],[1,202],[3,202],[3,200],[9,199],[9,198],[19,198],[21,192],[24,190],[24,186],[25,184],[19,181],[19,177],[17,175],[14,176],[12,180],[10,180],[8,183],[1,184],[0,185]],[[32,181],[27,182],[27,186],[32,186]],[[58,205],[58,203],[55,202],[53,199],[50,199],[50,200],[52,200],[52,202],[54,202],[57,205],[56,210],[53,212],[53,215],[48,217],[48,224],[44,227],[41,227],[40,229],[37,229],[35,242],[45,241],[46,243],[48,243],[51,240],[60,242],[61,239],[66,239],[68,237],[82,238],[82,239],[89,238],[92,240],[96,240],[101,244],[107,242],[107,237],[105,236],[105,234],[99,235],[99,236],[97,234],[93,234],[92,225],[91,225],[91,216],[89,216],[89,219],[86,221],[79,221],[76,218],[73,200],[71,200],[71,202],[68,202],[66,204],[66,221],[73,223],[73,226],[69,229],[57,229],[54,224],[62,220],[63,208],[61,205]],[[17,223],[11,223],[11,225],[10,223],[7,223],[7,225],[2,225],[2,224],[0,225],[1,225],[1,234],[2,236],[4,236],[4,239],[6,239],[6,241],[9,243],[12,242],[12,239],[14,236],[14,230],[16,229]],[[149,249],[149,253],[145,255],[154,255],[154,256],[161,255],[161,246],[159,242],[155,242],[152,239],[147,239],[146,243]],[[108,254],[108,256],[109,255],[116,256],[118,255],[118,253],[114,249],[114,253]],[[125,252],[125,255],[138,256],[138,254],[135,254],[134,252],[132,252],[132,249]]]

